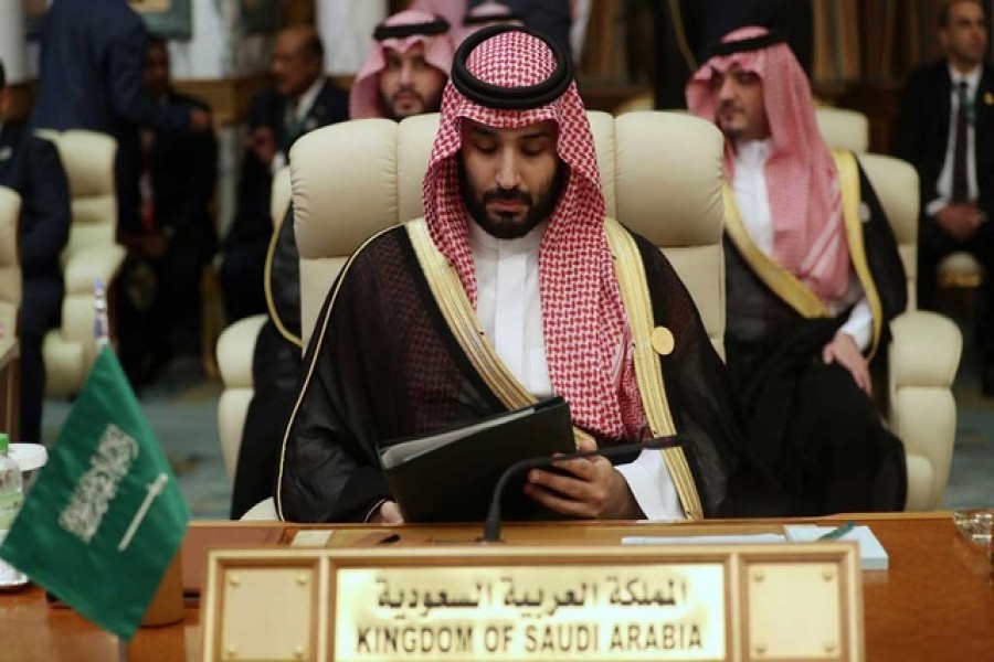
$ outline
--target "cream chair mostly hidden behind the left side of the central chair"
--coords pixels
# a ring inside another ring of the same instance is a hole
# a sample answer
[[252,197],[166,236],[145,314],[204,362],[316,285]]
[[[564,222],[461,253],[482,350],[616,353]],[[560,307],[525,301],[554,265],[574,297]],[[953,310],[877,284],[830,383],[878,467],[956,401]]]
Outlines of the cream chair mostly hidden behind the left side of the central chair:
[[[290,202],[289,168],[282,168],[273,175],[269,217],[278,229]],[[239,448],[245,429],[245,416],[252,402],[252,356],[258,331],[266,323],[265,314],[254,314],[228,327],[218,338],[218,369],[224,389],[218,401],[218,429],[221,437],[221,457],[228,478],[234,481],[239,462]]]

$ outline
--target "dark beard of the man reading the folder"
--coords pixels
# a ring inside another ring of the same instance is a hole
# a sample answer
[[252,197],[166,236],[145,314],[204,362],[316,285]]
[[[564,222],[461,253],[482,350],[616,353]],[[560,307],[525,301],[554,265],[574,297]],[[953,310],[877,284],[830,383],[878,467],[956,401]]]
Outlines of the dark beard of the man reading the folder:
[[[477,197],[469,182],[466,167],[457,159],[459,175],[459,194],[466,204],[466,211],[488,235],[498,239],[517,239],[530,233],[542,221],[549,218],[559,204],[559,197],[565,190],[569,179],[569,167],[562,161],[556,167],[556,173],[533,194],[519,188],[500,189],[494,186]],[[487,212],[487,204],[497,200],[516,201],[526,205],[527,213],[521,220],[511,214]]]

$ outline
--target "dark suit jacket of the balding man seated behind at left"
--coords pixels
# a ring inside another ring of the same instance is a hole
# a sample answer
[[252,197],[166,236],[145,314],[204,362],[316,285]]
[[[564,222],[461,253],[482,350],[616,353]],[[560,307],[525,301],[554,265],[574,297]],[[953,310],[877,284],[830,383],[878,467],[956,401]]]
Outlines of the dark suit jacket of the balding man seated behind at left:
[[[288,135],[284,128],[286,98],[275,90],[258,94],[252,102],[248,116],[248,131],[258,127],[268,127],[276,137],[276,146],[284,154],[300,135]],[[331,81],[326,81],[318,93],[314,105],[303,122],[303,132],[309,132],[326,125],[345,121],[349,118],[349,95],[339,89]],[[242,174],[237,189],[237,210],[225,239],[226,246],[235,244],[268,241],[273,232],[269,217],[269,189],[273,175],[269,167],[263,163],[251,149],[242,159]]]

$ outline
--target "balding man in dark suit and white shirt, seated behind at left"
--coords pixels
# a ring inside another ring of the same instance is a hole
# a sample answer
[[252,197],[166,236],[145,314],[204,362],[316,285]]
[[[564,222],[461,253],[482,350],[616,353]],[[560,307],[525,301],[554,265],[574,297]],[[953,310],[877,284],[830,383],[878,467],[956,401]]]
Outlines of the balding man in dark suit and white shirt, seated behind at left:
[[273,43],[276,86],[252,103],[237,210],[224,241],[221,288],[229,322],[266,310],[263,268],[273,234],[273,173],[286,164],[297,138],[348,119],[348,93],[324,76],[324,55],[313,28],[288,28]]

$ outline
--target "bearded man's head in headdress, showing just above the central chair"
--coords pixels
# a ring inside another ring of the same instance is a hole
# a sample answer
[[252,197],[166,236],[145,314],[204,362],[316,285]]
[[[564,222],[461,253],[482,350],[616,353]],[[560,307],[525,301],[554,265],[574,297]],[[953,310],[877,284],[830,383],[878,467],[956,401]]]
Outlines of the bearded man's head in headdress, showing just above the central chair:
[[356,75],[349,118],[400,121],[437,113],[454,52],[450,24],[415,10],[398,12],[377,25],[372,50]]

